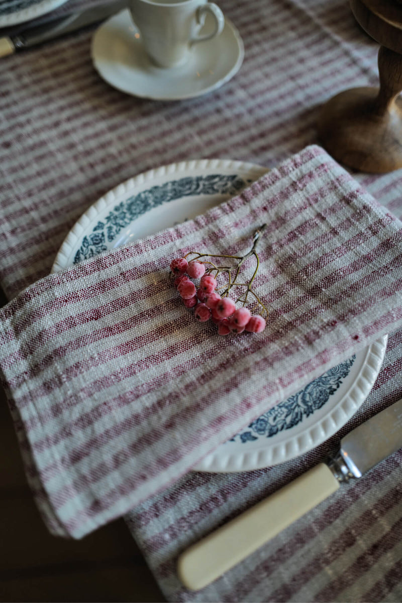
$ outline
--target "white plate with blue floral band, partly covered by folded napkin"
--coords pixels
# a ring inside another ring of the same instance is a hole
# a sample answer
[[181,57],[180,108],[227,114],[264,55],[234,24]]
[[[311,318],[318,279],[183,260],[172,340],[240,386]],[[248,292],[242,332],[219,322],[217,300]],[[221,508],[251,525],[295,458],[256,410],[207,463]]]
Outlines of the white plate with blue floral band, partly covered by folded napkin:
[[[195,218],[267,171],[251,163],[209,159],[174,163],[130,178],[81,216],[61,245],[52,271]],[[274,406],[195,469],[259,469],[292,459],[327,440],[368,396],[386,341],[386,337],[378,339]]]

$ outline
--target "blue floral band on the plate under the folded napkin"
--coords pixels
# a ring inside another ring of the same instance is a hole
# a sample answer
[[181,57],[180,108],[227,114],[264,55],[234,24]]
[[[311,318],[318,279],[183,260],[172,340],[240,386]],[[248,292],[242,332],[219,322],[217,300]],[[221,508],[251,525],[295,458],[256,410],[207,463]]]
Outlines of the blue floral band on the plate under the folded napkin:
[[[75,253],[74,264],[107,251],[110,248],[107,243],[115,241],[122,229],[162,203],[194,195],[234,195],[250,182],[251,180],[243,180],[236,174],[187,176],[131,195],[116,204],[107,216],[93,227],[90,235],[84,236]],[[304,390],[271,408],[229,442],[240,441],[246,444],[259,438],[271,438],[284,429],[292,429],[303,421],[303,417],[309,417],[328,402],[330,396],[342,384],[342,379],[349,374],[355,358],[356,356],[353,356],[331,368]]]

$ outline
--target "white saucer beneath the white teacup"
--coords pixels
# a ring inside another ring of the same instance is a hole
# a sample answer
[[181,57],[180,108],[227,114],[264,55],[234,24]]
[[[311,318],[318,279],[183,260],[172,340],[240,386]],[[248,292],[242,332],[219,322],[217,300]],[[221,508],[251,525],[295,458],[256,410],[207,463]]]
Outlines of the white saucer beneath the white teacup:
[[[206,29],[212,26],[208,17]],[[221,35],[195,44],[186,65],[180,68],[152,65],[128,10],[108,19],[92,39],[93,65],[108,84],[155,100],[174,101],[212,92],[239,71],[243,57],[240,34],[227,19]]]

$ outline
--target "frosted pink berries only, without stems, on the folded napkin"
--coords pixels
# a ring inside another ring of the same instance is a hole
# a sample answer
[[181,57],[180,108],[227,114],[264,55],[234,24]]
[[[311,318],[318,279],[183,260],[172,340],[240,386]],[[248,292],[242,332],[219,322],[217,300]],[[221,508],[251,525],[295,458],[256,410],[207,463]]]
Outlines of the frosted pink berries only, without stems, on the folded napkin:
[[[251,316],[247,308],[237,308],[229,297],[221,297],[215,289],[216,279],[211,274],[205,274],[206,268],[202,262],[192,260],[187,262],[180,257],[171,262],[171,271],[176,275],[174,285],[183,299],[186,308],[194,308],[194,316],[200,323],[212,320],[218,325],[219,335],[228,333],[260,333],[265,329],[262,316]],[[201,279],[196,289],[192,279]]]

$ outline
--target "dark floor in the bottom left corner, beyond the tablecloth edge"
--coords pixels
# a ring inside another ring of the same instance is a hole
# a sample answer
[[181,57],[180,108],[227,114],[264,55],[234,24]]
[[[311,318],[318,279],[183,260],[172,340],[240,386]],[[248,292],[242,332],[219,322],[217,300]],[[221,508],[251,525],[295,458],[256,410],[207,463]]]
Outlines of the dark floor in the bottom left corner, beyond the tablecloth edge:
[[49,534],[25,480],[1,388],[0,601],[165,601],[123,520],[78,541]]

